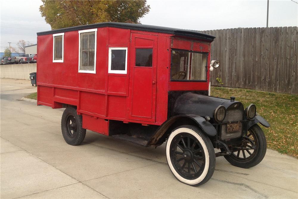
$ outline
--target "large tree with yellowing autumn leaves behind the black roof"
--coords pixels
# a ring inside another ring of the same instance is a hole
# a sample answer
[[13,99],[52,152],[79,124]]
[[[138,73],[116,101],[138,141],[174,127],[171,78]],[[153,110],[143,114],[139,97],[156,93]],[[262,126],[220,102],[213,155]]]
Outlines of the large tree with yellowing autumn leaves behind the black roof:
[[146,0],[141,1],[49,1],[42,0],[41,16],[53,29],[100,22],[140,23],[149,13]]

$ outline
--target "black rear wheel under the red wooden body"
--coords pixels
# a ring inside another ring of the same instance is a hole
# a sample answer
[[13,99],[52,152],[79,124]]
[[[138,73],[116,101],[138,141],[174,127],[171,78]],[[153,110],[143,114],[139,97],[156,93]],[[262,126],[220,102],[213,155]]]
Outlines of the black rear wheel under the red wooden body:
[[70,145],[79,145],[83,142],[86,129],[82,127],[82,116],[77,115],[77,110],[67,107],[62,115],[61,130],[64,140]]

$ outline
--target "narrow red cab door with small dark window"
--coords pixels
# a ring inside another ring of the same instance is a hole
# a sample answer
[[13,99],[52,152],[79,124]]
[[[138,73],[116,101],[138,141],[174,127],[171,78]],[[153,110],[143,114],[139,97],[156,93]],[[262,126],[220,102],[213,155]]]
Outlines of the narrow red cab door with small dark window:
[[131,33],[128,118],[155,122],[157,36]]

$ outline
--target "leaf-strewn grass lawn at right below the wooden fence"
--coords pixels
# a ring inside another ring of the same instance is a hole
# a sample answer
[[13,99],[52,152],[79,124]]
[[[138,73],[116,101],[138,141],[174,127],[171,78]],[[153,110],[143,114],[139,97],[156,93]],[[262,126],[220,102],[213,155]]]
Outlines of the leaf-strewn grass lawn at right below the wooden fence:
[[211,87],[211,95],[257,106],[257,112],[271,125],[261,128],[267,138],[267,147],[298,158],[298,95],[257,90]]

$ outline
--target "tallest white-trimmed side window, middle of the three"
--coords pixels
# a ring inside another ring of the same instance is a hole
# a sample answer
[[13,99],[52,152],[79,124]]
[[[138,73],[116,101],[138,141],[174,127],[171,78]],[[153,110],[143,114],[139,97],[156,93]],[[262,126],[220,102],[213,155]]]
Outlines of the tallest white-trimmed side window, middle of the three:
[[79,72],[96,73],[97,29],[79,31]]

